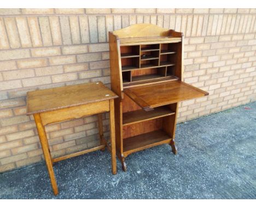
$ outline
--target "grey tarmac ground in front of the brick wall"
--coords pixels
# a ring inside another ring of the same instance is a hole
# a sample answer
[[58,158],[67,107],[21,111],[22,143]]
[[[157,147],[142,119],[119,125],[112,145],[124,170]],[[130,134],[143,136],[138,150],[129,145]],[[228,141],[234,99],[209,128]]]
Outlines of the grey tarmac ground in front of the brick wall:
[[44,163],[0,174],[1,199],[255,199],[256,102],[177,125],[178,155],[168,145],[127,157],[110,173],[110,155],[91,152],[54,167]]

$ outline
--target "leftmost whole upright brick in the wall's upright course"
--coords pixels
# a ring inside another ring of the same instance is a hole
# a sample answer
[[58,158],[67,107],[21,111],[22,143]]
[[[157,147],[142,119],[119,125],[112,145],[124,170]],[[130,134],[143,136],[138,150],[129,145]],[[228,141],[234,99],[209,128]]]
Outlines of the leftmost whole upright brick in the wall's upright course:
[[4,23],[5,23],[5,27],[6,27],[7,34],[8,34],[10,47],[11,48],[21,47],[15,17],[5,17],[4,18]]

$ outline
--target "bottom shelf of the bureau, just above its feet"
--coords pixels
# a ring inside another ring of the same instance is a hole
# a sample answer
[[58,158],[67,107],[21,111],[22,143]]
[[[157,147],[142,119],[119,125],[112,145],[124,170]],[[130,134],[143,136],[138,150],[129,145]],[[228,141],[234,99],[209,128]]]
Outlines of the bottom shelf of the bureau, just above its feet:
[[152,131],[139,134],[138,136],[126,138],[123,140],[124,152],[126,157],[132,152],[144,150],[160,144],[170,144],[172,138],[163,130]]

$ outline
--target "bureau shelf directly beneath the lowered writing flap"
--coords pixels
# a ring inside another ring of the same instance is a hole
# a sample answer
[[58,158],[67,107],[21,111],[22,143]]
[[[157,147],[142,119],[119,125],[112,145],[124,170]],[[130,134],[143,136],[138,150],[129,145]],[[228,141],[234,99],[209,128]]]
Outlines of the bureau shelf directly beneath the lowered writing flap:
[[123,126],[136,124],[142,121],[152,120],[156,118],[166,117],[168,115],[173,115],[174,112],[171,111],[167,106],[161,106],[158,108],[154,108],[153,111],[144,111],[143,109],[139,109],[137,111],[130,111],[127,113],[123,113]]

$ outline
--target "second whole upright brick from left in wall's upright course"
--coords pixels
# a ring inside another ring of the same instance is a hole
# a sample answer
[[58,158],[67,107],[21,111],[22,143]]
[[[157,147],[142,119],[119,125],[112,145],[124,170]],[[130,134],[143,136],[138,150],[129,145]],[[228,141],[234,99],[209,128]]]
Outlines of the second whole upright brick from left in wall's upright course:
[[16,17],[16,23],[22,47],[31,47],[30,30],[28,29],[26,17]]

